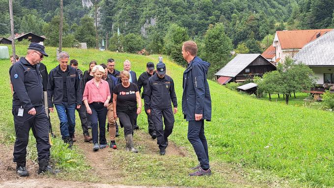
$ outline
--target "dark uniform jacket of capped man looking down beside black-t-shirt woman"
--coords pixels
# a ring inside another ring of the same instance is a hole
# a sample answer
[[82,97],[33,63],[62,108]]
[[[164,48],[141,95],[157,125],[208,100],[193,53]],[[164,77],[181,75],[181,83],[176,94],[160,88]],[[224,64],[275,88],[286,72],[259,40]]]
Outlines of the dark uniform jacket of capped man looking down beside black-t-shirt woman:
[[149,78],[145,87],[145,109],[166,109],[171,107],[170,101],[177,107],[173,79],[167,75],[160,79],[157,74]]

